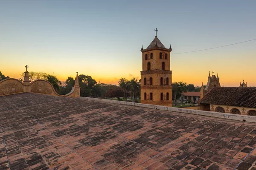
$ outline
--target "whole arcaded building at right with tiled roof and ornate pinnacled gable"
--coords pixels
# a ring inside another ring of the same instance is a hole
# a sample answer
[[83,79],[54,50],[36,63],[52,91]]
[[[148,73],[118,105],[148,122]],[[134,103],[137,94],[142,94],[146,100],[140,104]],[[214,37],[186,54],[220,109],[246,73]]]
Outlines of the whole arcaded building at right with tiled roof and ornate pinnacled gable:
[[220,87],[218,76],[208,77],[207,86],[201,87],[200,105],[204,110],[256,116],[256,87]]

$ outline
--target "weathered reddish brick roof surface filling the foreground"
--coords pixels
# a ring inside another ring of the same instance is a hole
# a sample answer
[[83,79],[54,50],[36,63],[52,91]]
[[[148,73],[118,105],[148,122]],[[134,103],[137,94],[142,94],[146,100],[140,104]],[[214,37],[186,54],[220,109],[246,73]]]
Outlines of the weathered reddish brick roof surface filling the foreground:
[[43,94],[0,101],[1,170],[256,167],[253,123]]

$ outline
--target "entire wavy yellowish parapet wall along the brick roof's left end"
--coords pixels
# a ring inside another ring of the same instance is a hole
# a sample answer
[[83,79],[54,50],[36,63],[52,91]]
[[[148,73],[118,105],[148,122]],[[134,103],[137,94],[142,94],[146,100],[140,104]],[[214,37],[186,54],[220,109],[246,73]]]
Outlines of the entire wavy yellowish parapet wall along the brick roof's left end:
[[0,96],[26,92],[72,98],[77,98],[80,96],[80,88],[73,87],[70,93],[60,95],[55,91],[50,82],[42,79],[35,80],[29,85],[24,85],[20,80],[13,78],[0,81]]

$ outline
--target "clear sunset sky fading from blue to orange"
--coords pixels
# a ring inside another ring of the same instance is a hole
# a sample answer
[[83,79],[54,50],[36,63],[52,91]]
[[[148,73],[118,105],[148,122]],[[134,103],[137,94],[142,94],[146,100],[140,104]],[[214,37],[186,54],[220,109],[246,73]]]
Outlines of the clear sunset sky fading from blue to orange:
[[[256,86],[255,0],[0,0],[0,71],[90,75],[117,84],[140,79],[141,45],[172,44],[172,81],[201,85],[209,71],[221,85]],[[212,74],[212,73],[211,73]]]

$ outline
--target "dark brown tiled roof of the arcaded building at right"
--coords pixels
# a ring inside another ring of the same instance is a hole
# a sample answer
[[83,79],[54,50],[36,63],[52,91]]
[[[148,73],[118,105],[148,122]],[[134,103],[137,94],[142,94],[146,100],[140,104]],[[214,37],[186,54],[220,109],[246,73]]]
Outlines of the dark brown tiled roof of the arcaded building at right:
[[256,87],[213,88],[199,102],[203,104],[256,108]]

